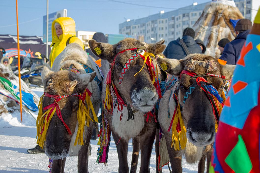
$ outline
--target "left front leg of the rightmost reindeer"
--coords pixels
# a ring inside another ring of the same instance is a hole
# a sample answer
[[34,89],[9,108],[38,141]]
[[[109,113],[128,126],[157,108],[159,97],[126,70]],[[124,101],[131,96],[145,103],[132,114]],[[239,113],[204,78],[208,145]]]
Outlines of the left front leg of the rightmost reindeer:
[[181,156],[178,156],[178,152],[174,150],[174,147],[172,147],[172,135],[170,132],[165,132],[164,129],[162,129],[165,135],[166,139],[166,145],[168,154],[170,157],[172,172],[174,173],[182,173],[182,167],[181,167]]

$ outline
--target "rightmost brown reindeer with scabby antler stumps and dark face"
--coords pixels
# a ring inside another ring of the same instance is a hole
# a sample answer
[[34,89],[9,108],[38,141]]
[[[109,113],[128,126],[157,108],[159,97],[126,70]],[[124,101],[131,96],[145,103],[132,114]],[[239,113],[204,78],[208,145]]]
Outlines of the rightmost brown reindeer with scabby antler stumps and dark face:
[[[218,61],[207,55],[190,54],[185,59],[167,59],[157,58],[158,64],[162,65],[166,72],[171,75],[180,76],[183,70],[202,75],[209,84],[212,84],[221,95],[224,80],[220,77],[204,75],[206,73],[226,76],[230,80],[235,65],[220,65]],[[166,138],[167,150],[170,156],[172,172],[181,173],[181,158],[185,155],[188,163],[199,161],[198,172],[203,173],[205,170],[205,159],[207,158],[207,172],[209,171],[209,162],[212,153],[212,143],[215,139],[215,116],[209,98],[200,86],[195,85],[195,89],[184,101],[186,92],[189,92],[190,86],[196,82],[196,77],[188,74],[181,74],[179,79],[179,89],[176,92],[180,103],[181,116],[187,129],[187,143],[184,150],[175,151],[172,147],[172,128],[168,128],[173,117],[176,102],[173,99],[173,93],[176,86],[166,91],[160,101],[158,119],[162,131]],[[177,82],[177,83],[178,83]],[[193,85],[194,86],[194,85]],[[168,111],[169,110],[169,111]],[[170,114],[170,115],[169,115]],[[168,115],[170,118],[168,118]],[[177,145],[178,142],[177,142]]]

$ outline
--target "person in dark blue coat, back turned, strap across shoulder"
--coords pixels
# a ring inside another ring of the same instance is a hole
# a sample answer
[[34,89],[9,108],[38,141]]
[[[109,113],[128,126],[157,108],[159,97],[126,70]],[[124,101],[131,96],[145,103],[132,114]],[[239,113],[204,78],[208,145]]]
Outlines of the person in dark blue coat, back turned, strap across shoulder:
[[[194,41],[195,31],[192,28],[186,28],[183,31],[183,41],[189,50],[189,54],[202,53],[200,46]],[[167,58],[183,59],[187,56],[183,46],[181,46],[180,38],[171,41],[165,51],[164,55]]]

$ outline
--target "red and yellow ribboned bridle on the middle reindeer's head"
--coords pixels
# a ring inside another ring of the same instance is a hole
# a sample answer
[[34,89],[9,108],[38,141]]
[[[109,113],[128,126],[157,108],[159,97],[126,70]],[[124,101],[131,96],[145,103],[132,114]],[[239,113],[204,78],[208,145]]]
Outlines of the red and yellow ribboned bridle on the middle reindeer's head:
[[[156,91],[159,95],[159,98],[161,98],[161,90],[160,90],[160,86],[159,86],[159,80],[158,80],[158,77],[157,77],[158,76],[158,71],[157,71],[158,68],[156,68],[156,72],[155,72],[155,67],[152,63],[153,60],[151,58],[151,57],[154,57],[154,55],[147,52],[144,47],[141,47],[139,49],[138,48],[131,48],[131,49],[122,50],[118,54],[116,54],[116,56],[118,56],[119,54],[122,54],[122,53],[124,53],[125,51],[128,51],[128,50],[134,50],[134,51],[136,51],[136,53],[131,58],[129,58],[127,60],[127,62],[125,63],[125,65],[123,66],[123,69],[122,69],[120,77],[119,77],[119,86],[121,86],[121,83],[123,81],[123,77],[126,74],[126,71],[128,70],[131,62],[133,62],[136,58],[140,57],[144,60],[144,65],[142,66],[141,70],[144,68],[145,65],[147,65],[147,69],[148,69],[149,74],[151,76],[151,81],[152,81],[153,85],[155,86],[155,89],[156,89]],[[118,111],[121,112],[120,120],[122,119],[123,107],[127,107],[127,110],[128,110],[127,121],[128,121],[128,120],[134,119],[133,111],[131,109],[131,106],[127,105],[125,103],[125,101],[122,99],[122,97],[120,96],[120,94],[119,94],[119,92],[118,92],[118,90],[117,90],[117,88],[114,84],[114,81],[113,81],[114,80],[113,79],[113,66],[115,65],[116,56],[114,58],[114,61],[110,64],[111,68],[108,72],[107,79],[106,79],[106,82],[107,82],[106,98],[103,101],[103,103],[104,103],[104,108],[108,112],[113,112],[113,105],[116,105]],[[137,72],[136,74],[138,74],[139,72]],[[112,92],[114,94],[114,97],[112,97],[112,95],[111,95]],[[112,100],[114,100],[114,101],[112,101]],[[155,115],[152,114],[151,112],[148,112],[145,115],[147,115],[146,121],[148,121],[151,116],[154,116],[155,122],[157,122]]]

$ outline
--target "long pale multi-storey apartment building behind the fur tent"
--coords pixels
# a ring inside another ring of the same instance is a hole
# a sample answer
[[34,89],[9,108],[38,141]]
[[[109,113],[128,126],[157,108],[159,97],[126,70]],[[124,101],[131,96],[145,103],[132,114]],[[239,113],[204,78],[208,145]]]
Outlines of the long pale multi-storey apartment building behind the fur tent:
[[[205,6],[212,1],[185,6],[177,10],[150,15],[144,18],[127,20],[119,24],[119,34],[144,38],[146,43],[155,43],[165,39],[165,44],[182,37],[183,30],[191,27],[202,14]],[[244,14],[244,0],[235,0],[242,14]],[[254,20],[259,8],[260,0],[246,0],[246,18]],[[242,8],[243,7],[243,8]],[[256,10],[255,10],[256,9]]]

